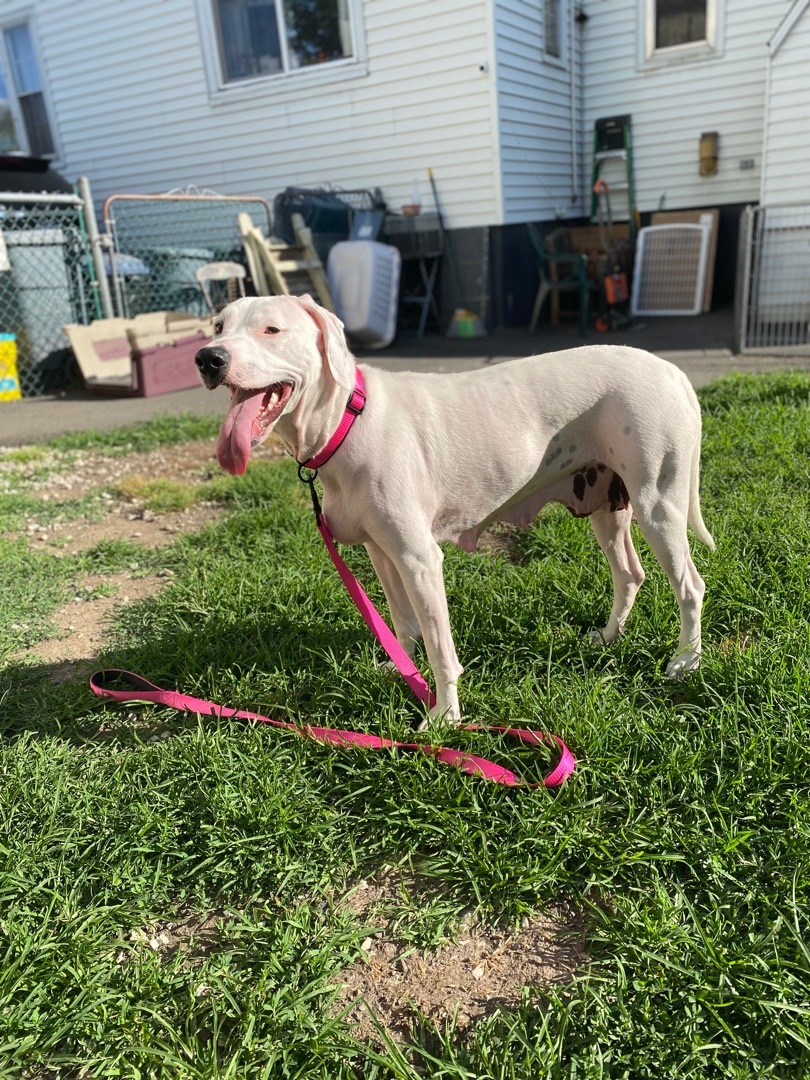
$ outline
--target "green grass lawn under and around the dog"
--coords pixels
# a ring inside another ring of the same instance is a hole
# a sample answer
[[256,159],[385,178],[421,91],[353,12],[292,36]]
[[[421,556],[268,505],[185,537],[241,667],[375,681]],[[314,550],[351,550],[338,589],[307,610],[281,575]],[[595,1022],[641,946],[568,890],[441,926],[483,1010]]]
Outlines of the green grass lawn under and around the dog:
[[[640,538],[647,582],[610,649],[585,635],[610,606],[585,523],[544,513],[516,561],[446,552],[465,715],[559,733],[579,765],[556,793],[54,686],[8,659],[10,627],[36,636],[89,561],[132,553],[57,561],[0,540],[0,1076],[810,1077],[810,376],[729,378],[701,399],[717,551],[693,544],[705,653],[688,681],[663,675],[676,609]],[[123,610],[103,664],[409,737],[419,707],[378,671],[292,463],[214,488],[227,515],[151,556],[171,585]],[[365,553],[347,557],[381,599]],[[451,740],[529,777],[549,764]],[[588,962],[469,1030],[357,1043],[332,987],[369,927],[336,897],[384,865],[442,897],[403,897],[403,941],[437,946],[469,909],[504,924],[567,903]],[[211,940],[144,944],[214,916]]]

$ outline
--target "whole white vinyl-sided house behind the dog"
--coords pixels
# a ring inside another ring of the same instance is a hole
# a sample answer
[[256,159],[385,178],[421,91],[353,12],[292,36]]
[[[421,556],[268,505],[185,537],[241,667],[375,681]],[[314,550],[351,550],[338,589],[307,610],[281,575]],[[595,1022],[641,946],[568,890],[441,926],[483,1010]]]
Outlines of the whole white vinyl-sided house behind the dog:
[[[29,111],[44,108],[55,167],[89,177],[98,206],[334,186],[379,188],[399,211],[416,180],[432,210],[430,168],[447,227],[464,233],[469,302],[488,294],[517,322],[536,289],[525,222],[589,220],[597,120],[632,119],[643,224],[720,208],[727,292],[742,207],[810,173],[805,0],[318,0],[307,10],[338,26],[323,56],[284,38],[284,3],[2,0],[0,137],[22,124],[5,35],[25,24],[41,80]],[[713,175],[704,133],[718,137]]]

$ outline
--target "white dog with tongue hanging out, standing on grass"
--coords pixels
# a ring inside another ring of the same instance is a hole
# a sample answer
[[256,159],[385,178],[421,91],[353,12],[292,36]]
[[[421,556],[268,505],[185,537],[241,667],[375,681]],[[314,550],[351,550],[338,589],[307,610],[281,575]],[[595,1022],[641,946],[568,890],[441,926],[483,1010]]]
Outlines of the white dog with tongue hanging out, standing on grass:
[[[206,387],[231,391],[217,456],[238,474],[273,430],[297,461],[323,457],[357,378],[342,324],[309,296],[228,305],[197,364]],[[434,716],[460,718],[463,671],[440,543],[474,551],[490,523],[527,526],[550,501],[590,517],[610,564],[613,606],[596,633],[605,642],[623,632],[644,581],[635,513],[680,612],[667,674],[698,666],[704,584],[687,523],[714,541],[698,498],[700,407],[677,367],[638,349],[585,346],[454,375],[360,370],[365,407],[320,468],[324,516],[338,541],[365,544],[410,656],[423,637]]]

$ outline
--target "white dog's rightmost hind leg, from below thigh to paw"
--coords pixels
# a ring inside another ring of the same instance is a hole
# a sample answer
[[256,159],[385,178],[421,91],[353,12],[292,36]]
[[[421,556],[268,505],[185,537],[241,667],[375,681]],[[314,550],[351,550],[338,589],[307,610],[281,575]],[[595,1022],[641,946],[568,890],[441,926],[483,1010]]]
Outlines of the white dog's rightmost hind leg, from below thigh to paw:
[[663,498],[656,487],[644,489],[633,502],[642,535],[670,579],[678,602],[680,635],[666,674],[670,678],[683,678],[700,663],[701,608],[706,588],[689,550],[687,505],[680,508],[675,499]]

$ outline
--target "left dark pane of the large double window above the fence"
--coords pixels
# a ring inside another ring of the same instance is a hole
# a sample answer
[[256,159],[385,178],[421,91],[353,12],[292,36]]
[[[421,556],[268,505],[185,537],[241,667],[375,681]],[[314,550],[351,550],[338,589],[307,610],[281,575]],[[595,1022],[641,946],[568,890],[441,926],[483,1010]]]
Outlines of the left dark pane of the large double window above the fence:
[[228,82],[281,71],[273,0],[216,0],[219,44]]

